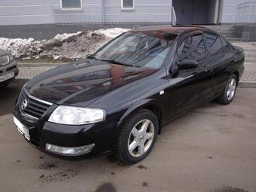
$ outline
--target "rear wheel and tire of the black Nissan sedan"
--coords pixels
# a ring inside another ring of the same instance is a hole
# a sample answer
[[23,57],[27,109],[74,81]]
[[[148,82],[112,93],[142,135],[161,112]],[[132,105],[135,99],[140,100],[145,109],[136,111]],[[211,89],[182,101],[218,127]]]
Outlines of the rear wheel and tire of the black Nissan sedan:
[[237,87],[237,78],[236,75],[230,75],[230,78],[227,80],[224,91],[221,93],[221,96],[218,97],[217,101],[223,105],[228,105],[233,101],[233,98],[236,95]]

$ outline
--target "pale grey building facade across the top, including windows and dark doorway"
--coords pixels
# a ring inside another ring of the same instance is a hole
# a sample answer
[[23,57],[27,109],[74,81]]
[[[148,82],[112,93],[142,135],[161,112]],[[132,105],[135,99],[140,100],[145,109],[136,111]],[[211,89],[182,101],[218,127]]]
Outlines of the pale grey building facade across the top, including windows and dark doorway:
[[222,24],[235,23],[239,17],[243,18],[245,9],[251,11],[249,22],[256,23],[256,8],[251,7],[254,4],[248,4],[256,4],[256,0],[248,1],[1,0],[0,26],[54,23]]

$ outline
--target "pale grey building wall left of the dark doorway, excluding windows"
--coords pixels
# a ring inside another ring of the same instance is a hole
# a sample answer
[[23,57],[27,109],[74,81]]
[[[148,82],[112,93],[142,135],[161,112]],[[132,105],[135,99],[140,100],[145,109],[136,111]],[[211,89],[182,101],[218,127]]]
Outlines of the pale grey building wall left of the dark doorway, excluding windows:
[[120,0],[82,0],[79,11],[62,11],[60,0],[1,0],[0,25],[48,23],[170,22],[172,0],[134,0],[133,11]]

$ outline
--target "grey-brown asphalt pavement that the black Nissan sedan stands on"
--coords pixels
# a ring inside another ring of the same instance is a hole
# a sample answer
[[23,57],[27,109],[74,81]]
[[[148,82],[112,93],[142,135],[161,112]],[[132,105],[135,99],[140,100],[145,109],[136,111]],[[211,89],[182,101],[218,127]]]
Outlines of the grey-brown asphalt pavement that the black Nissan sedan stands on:
[[207,103],[163,127],[133,166],[112,155],[60,160],[29,145],[11,112],[23,84],[0,90],[0,191],[256,191],[256,89],[230,105]]

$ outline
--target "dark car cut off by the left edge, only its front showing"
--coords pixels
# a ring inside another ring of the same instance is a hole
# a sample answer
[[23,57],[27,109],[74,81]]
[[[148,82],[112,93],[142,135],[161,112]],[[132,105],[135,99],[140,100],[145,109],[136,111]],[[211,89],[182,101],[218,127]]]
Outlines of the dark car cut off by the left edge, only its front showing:
[[18,75],[19,69],[11,52],[0,49],[0,88],[8,86]]

